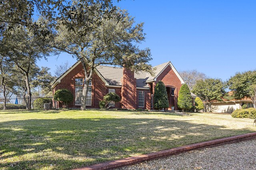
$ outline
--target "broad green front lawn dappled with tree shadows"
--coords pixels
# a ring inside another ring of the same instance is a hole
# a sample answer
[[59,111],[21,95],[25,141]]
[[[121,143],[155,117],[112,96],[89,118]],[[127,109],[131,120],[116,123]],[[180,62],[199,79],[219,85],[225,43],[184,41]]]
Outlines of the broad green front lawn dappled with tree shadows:
[[0,169],[72,169],[255,132],[231,115],[136,111],[0,112]]

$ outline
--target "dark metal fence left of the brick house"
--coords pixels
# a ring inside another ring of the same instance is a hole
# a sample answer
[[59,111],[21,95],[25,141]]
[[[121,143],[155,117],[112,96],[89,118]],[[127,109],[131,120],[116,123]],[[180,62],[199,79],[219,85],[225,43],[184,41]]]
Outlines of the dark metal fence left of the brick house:
[[[31,98],[31,110],[44,109],[45,103],[50,103],[53,108],[52,97],[33,97]],[[6,108],[4,108],[4,99],[0,98],[0,111],[22,111],[28,108],[28,98],[9,98],[6,99]]]

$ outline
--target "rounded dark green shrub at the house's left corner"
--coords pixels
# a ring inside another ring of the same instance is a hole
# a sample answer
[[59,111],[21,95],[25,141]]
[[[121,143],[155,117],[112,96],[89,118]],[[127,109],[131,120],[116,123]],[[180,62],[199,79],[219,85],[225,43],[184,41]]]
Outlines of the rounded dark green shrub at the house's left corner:
[[54,93],[53,98],[62,102],[62,107],[66,108],[68,103],[73,101],[73,94],[68,89],[59,89]]

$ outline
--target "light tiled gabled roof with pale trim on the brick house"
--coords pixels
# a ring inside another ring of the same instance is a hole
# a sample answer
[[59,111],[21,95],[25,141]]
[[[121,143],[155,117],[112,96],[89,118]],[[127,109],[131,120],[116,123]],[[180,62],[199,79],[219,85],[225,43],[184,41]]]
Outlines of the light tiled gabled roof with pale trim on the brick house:
[[[62,74],[59,78],[52,85],[52,89],[60,83],[60,80],[64,78],[71,70],[73,70],[78,64],[81,62],[76,62],[73,66],[71,66],[66,72]],[[135,72],[134,78],[136,78],[137,88],[149,88],[148,82],[156,81],[156,78],[164,71],[167,66],[171,66],[174,70],[175,74],[180,79],[181,83],[184,84],[184,81],[178,74],[177,70],[174,68],[172,63],[169,61],[167,63],[160,64],[158,66],[154,66],[154,76],[151,76],[148,72]],[[123,76],[123,69],[121,67],[114,67],[114,66],[97,66],[95,70],[96,74],[100,76],[100,78],[105,82],[106,86],[122,86],[121,78]]]

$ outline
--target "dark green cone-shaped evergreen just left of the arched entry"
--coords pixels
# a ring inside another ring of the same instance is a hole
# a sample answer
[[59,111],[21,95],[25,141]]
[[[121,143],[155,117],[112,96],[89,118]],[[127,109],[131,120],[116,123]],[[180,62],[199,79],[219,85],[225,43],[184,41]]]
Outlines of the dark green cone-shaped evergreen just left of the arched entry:
[[169,106],[166,87],[162,81],[156,83],[154,92],[154,107],[162,109]]

